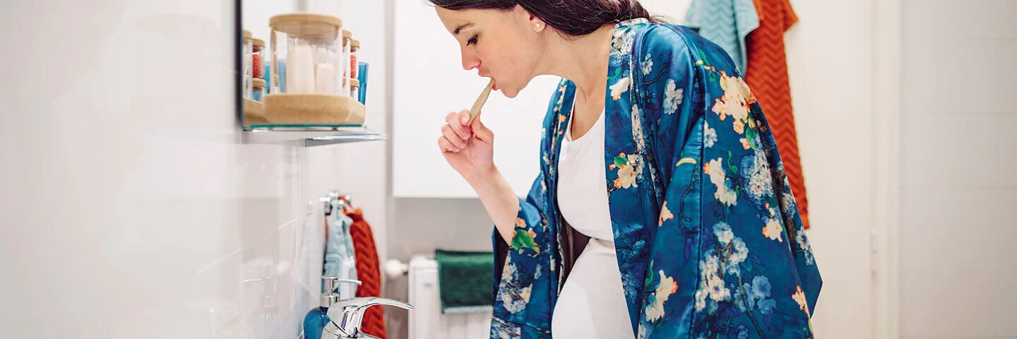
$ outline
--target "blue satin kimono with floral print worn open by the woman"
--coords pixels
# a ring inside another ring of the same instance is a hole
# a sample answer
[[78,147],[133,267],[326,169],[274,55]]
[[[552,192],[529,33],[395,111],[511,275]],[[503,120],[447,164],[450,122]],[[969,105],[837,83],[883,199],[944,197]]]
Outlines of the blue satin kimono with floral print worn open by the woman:
[[[634,19],[615,26],[608,70],[603,170],[633,332],[812,338],[820,274],[766,117],[730,57],[686,27]],[[493,234],[491,338],[551,336],[567,227],[555,166],[575,91],[562,80],[552,96],[511,243]]]

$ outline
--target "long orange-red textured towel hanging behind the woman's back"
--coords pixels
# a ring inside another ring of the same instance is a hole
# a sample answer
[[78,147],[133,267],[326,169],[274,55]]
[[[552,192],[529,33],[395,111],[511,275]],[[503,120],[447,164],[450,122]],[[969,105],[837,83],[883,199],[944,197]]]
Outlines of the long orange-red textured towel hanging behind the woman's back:
[[801,223],[809,228],[809,202],[805,183],[801,176],[798,157],[798,135],[794,130],[791,110],[791,87],[787,77],[787,54],[784,51],[784,32],[798,17],[788,0],[754,0],[759,13],[760,26],[749,34],[749,67],[745,82],[753,89],[766,114],[777,150],[784,161],[784,171],[791,183],[791,191],[801,214]]

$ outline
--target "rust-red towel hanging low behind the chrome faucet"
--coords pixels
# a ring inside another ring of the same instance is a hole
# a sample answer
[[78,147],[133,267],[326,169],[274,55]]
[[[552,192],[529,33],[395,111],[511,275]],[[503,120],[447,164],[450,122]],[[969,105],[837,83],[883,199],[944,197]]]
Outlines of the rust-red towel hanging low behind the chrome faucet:
[[[357,287],[357,296],[381,296],[381,270],[371,226],[364,221],[364,214],[360,209],[346,215],[353,219],[350,236],[353,238],[353,251],[357,258],[357,279],[362,283]],[[364,312],[360,330],[381,339],[386,338],[381,306],[369,307]]]

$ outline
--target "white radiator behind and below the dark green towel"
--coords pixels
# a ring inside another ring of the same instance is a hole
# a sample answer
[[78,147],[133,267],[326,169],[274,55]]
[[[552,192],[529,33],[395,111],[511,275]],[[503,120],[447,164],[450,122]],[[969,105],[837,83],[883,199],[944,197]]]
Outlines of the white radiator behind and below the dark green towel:
[[410,278],[410,338],[489,338],[491,313],[442,315],[438,295],[438,263],[414,258],[406,269]]

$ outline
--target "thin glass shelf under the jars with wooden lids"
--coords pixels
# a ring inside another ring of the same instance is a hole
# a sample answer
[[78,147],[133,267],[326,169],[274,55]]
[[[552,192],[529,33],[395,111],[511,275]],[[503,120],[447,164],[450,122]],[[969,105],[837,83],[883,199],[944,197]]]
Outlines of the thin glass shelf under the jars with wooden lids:
[[312,147],[383,140],[388,136],[363,125],[259,125],[244,127],[244,144],[275,144]]

